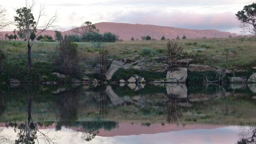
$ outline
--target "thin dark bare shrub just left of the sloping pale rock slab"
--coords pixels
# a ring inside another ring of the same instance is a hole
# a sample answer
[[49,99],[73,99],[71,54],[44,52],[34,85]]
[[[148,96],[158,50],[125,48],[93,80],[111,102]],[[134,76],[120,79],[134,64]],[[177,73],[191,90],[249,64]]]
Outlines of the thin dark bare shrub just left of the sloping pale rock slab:
[[109,53],[104,48],[100,49],[100,52],[97,54],[97,63],[98,68],[96,69],[96,72],[99,74],[100,81],[102,81],[106,74],[109,72],[109,65],[110,61],[109,59]]

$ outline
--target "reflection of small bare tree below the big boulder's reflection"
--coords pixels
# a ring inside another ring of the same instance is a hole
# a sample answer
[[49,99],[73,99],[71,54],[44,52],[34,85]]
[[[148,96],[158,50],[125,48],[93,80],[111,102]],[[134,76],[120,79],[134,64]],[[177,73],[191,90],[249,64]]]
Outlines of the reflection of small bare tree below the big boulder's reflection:
[[167,122],[173,123],[177,122],[178,118],[182,118],[182,109],[177,107],[177,95],[176,94],[168,94],[167,101]]

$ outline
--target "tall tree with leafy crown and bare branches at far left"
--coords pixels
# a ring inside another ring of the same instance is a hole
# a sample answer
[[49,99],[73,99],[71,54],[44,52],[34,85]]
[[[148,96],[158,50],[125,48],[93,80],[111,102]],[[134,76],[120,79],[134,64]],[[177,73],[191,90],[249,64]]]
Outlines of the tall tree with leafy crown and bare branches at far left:
[[[48,21],[44,22],[42,25],[39,25],[39,20],[41,20],[42,17],[46,16],[45,14],[45,4],[40,4],[39,9],[39,16],[37,20],[35,21],[35,18],[33,17],[33,8],[35,7],[35,1],[32,1],[32,4],[30,4],[26,0],[26,6],[16,9],[17,16],[14,17],[15,25],[18,28],[18,34],[22,33],[22,37],[26,39],[28,42],[28,66],[32,66],[32,60],[31,60],[31,47],[33,45],[33,41],[30,39],[31,33],[36,33],[36,37],[42,33],[43,31],[53,28],[56,30],[56,28],[59,28],[59,26],[54,25],[54,23],[57,21],[58,15],[57,12],[54,16],[52,16]],[[31,43],[32,42],[32,43]]]

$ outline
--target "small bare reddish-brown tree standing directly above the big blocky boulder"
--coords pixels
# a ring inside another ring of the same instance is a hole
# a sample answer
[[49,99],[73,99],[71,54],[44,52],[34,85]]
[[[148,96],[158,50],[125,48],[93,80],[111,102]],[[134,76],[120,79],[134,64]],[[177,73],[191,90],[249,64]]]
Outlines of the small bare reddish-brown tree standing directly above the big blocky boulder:
[[178,46],[178,42],[169,41],[166,44],[163,55],[167,61],[168,67],[167,70],[174,70],[178,65],[178,57],[182,54],[183,47]]

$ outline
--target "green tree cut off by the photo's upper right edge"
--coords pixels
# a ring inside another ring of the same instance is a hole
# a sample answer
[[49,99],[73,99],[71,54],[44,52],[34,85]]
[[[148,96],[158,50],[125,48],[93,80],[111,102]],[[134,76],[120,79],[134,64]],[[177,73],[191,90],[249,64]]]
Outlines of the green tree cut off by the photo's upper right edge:
[[242,11],[236,13],[237,19],[241,22],[240,28],[243,33],[256,35],[256,4],[252,3],[243,7]]

